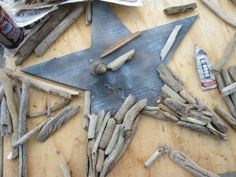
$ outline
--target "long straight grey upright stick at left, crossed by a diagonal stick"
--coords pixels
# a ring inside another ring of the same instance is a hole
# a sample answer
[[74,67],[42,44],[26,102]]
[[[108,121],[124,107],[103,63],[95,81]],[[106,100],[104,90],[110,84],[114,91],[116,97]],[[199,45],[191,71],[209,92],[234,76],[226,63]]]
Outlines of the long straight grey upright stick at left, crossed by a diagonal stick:
[[[19,137],[24,136],[27,130],[27,112],[29,104],[29,85],[28,83],[22,83],[22,94],[20,100],[19,110]],[[26,145],[21,144],[19,146],[19,176],[27,177],[27,154]]]

